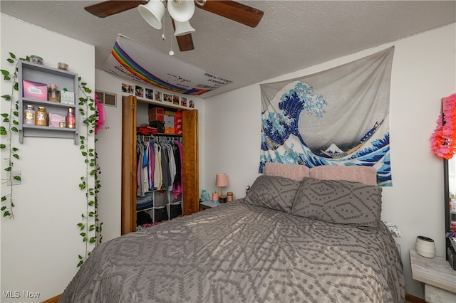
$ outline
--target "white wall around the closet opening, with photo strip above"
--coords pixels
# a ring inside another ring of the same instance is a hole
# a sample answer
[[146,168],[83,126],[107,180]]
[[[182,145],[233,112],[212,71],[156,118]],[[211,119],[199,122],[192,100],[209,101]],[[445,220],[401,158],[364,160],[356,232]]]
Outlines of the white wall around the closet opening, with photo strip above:
[[[100,211],[100,220],[103,222],[103,242],[116,238],[120,235],[120,181],[122,173],[122,96],[128,95],[122,92],[122,83],[135,85],[138,83],[130,82],[118,76],[106,73],[103,70],[95,70],[95,88],[105,92],[111,92],[117,94],[117,107],[111,107],[105,105],[106,119],[102,129],[100,129],[96,135],[97,142],[97,154],[98,164],[100,165],[102,174],[100,175],[100,181],[102,188],[98,194],[98,204]],[[152,90],[161,90],[160,88],[153,87],[152,85],[138,84],[142,87],[151,88]],[[170,92],[172,95],[185,96]],[[199,110],[199,150],[202,150],[204,144],[204,138],[202,137],[202,129],[204,129],[204,115],[202,110],[204,108],[204,102],[199,97],[185,96],[187,97],[187,107],[181,107],[183,109],[188,107],[190,100],[195,102],[195,110]],[[143,99],[146,100],[146,99]],[[149,101],[149,100],[147,100]],[[160,106],[176,106],[170,102],[154,102]],[[180,107],[180,106],[179,106]],[[138,108],[139,110],[139,108]],[[139,116],[139,115],[138,115]],[[144,121],[138,119],[138,124],[147,123],[147,112],[142,117],[146,117]],[[204,169],[204,161],[200,153],[199,155],[199,171]]]

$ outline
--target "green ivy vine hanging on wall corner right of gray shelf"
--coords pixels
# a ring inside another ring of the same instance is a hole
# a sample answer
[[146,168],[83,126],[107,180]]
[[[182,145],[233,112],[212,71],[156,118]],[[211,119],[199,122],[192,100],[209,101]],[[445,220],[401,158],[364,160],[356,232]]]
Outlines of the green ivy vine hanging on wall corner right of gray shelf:
[[[78,267],[83,265],[83,262],[87,260],[88,256],[90,256],[89,244],[99,245],[102,240],[101,230],[103,223],[100,222],[98,218],[98,198],[97,194],[99,188],[101,187],[100,180],[98,179],[99,174],[101,174],[100,166],[97,164],[98,155],[95,151],[95,147],[90,147],[86,140],[89,136],[95,136],[95,126],[98,121],[98,112],[95,106],[95,100],[93,97],[90,97],[90,90],[87,87],[87,83],[81,82],[81,77],[78,78],[79,80],[79,89],[83,92],[84,97],[79,98],[79,114],[81,117],[87,116],[88,112],[93,112],[92,115],[88,115],[85,119],[83,119],[83,124],[87,127],[87,137],[79,136],[81,140],[81,154],[84,157],[84,162],[87,166],[87,174],[86,176],[81,176],[81,183],[79,184],[79,188],[81,190],[86,191],[86,202],[87,202],[87,210],[86,213],[81,214],[82,222],[78,223],[78,227],[80,228],[80,235],[83,238],[83,243],[86,243],[86,252],[84,255],[78,255],[79,262]],[[95,96],[96,97],[96,96]],[[94,140],[96,142],[96,138]],[[94,179],[95,186],[89,187],[89,179]],[[90,237],[90,234],[93,236]]]

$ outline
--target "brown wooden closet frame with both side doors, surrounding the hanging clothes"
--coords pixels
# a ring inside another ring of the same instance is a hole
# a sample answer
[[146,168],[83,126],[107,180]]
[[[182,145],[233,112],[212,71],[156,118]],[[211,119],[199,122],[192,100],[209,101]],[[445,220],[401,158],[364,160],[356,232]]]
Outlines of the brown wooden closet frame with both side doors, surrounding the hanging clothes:
[[138,102],[182,110],[183,215],[199,211],[198,111],[157,105],[133,95],[122,97],[121,234],[136,231],[136,111]]

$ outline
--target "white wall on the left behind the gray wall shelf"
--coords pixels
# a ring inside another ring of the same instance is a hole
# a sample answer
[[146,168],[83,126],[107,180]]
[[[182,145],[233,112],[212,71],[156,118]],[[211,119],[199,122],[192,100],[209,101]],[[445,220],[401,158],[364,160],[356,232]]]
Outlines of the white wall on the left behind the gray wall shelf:
[[[1,69],[12,72],[14,65],[6,62],[9,52],[18,58],[40,55],[52,68],[67,63],[88,87],[94,87],[93,46],[1,14]],[[11,84],[2,77],[1,95],[9,93]],[[2,98],[0,104],[1,112],[9,112],[10,102]],[[79,123],[82,127],[81,119]],[[86,210],[85,192],[78,187],[86,166],[73,139],[25,137],[19,144],[18,138],[15,134],[11,142],[19,148],[21,158],[14,161],[14,170],[22,177],[21,185],[14,186],[14,220],[0,218],[1,302],[41,302],[63,292],[77,271],[78,254],[85,253],[76,224]],[[7,143],[4,136],[0,139]],[[93,145],[93,139],[88,144]],[[4,157],[2,150],[2,181]],[[1,192],[3,196],[9,188],[2,184]],[[21,297],[5,299],[6,291],[19,291]],[[26,299],[23,291],[41,294]]]

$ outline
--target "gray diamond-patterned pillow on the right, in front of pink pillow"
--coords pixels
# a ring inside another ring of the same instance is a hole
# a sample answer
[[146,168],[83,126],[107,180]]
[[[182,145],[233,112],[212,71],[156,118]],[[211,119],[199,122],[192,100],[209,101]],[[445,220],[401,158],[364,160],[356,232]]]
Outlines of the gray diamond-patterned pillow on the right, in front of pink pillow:
[[304,178],[291,209],[295,216],[377,228],[382,188],[344,180]]

